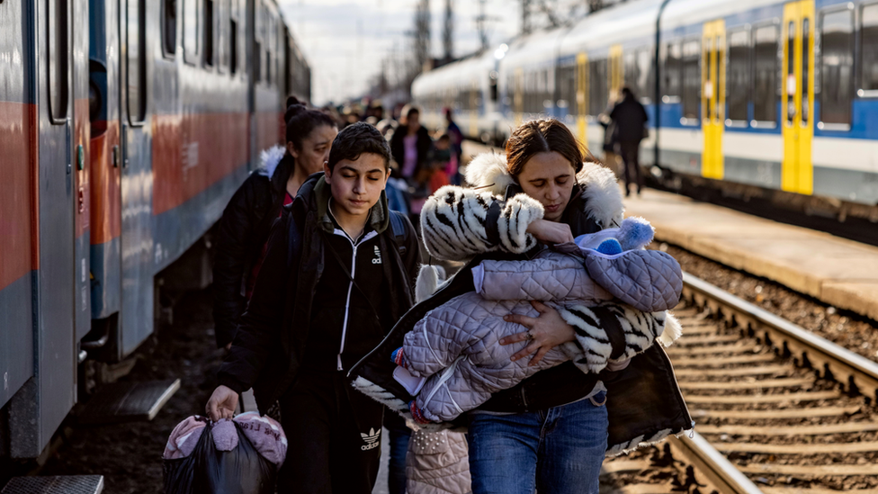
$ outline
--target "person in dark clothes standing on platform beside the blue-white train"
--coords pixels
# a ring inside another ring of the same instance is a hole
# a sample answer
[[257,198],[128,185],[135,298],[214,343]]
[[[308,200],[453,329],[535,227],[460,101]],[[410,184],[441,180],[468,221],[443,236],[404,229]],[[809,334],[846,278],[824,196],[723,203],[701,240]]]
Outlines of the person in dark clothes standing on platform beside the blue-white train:
[[625,166],[625,196],[631,194],[632,182],[637,184],[637,195],[643,189],[643,175],[639,155],[644,126],[649,117],[641,102],[634,97],[630,87],[622,88],[623,99],[617,103],[610,118],[616,126],[619,151]]

